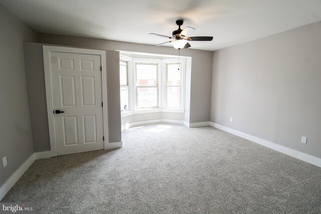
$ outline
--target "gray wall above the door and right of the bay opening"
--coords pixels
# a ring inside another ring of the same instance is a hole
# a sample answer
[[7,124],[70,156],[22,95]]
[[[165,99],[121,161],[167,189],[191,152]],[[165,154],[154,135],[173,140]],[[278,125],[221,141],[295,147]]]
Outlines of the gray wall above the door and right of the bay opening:
[[[148,37],[148,35],[146,35]],[[61,36],[38,33],[41,43],[84,47],[100,50],[119,50],[153,54],[178,55],[171,47],[155,47],[135,43],[125,43],[85,37]],[[193,46],[193,44],[191,44]],[[183,49],[182,56],[192,57],[190,123],[210,120],[211,79],[213,52]]]

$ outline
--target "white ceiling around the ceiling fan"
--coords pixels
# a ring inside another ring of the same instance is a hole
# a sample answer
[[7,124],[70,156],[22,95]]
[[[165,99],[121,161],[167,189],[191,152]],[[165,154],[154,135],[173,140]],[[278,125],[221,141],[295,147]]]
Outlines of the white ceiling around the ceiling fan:
[[175,21],[196,28],[192,49],[214,51],[321,21],[321,0],[0,0],[37,32],[156,45]]

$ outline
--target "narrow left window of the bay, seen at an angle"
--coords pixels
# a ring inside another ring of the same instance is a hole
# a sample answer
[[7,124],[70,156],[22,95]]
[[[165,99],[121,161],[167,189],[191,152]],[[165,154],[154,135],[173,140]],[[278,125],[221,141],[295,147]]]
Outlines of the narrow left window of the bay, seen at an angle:
[[128,65],[125,61],[119,62],[119,82],[120,82],[120,110],[128,110]]

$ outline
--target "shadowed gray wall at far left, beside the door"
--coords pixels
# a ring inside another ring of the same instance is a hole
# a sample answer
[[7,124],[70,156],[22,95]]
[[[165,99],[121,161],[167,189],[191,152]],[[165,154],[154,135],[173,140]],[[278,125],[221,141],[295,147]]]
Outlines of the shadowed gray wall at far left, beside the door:
[[[37,34],[0,4],[0,186],[34,153],[24,42]],[[7,156],[8,165],[2,158]]]

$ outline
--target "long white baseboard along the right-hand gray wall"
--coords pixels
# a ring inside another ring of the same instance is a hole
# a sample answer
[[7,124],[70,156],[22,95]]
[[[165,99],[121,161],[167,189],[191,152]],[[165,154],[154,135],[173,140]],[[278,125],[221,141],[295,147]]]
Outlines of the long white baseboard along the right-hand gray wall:
[[300,151],[297,151],[297,150],[294,150],[294,149],[291,149],[291,148],[288,148],[288,147],[285,147],[285,146],[281,146],[279,144],[276,144],[276,143],[273,143],[273,142],[270,142],[270,141],[267,141],[267,140],[263,140],[261,138],[246,134],[246,133],[241,132],[241,131],[237,131],[235,129],[232,129],[232,128],[229,128],[229,127],[226,127],[226,126],[222,126],[222,125],[217,124],[217,123],[210,122],[210,125],[215,127],[215,128],[221,129],[223,131],[229,132],[231,134],[237,135],[239,137],[245,138],[247,140],[253,141],[253,142],[258,143],[260,145],[263,145],[265,147],[271,148],[273,150],[282,152],[284,154],[290,155],[290,156],[295,157],[297,159],[300,159],[300,160],[303,160],[305,162],[308,162],[308,163],[311,163],[313,165],[321,167],[321,159],[320,158],[314,157],[312,155],[309,155],[309,154],[306,154],[306,153],[303,153],[303,152],[300,152]]

